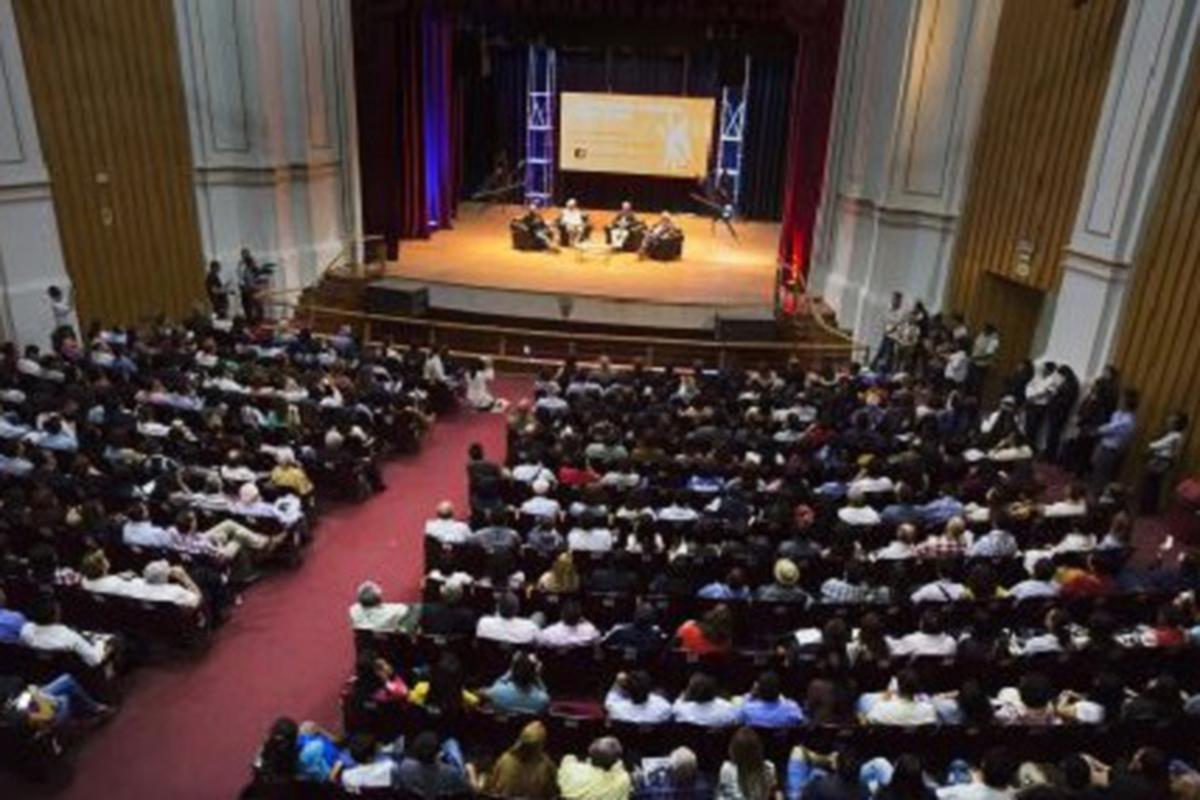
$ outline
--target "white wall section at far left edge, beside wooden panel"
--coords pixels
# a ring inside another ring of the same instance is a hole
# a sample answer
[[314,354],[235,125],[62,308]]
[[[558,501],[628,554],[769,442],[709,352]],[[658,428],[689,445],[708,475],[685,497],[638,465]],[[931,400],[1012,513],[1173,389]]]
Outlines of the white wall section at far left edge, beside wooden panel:
[[70,278],[12,0],[0,0],[0,336],[48,345],[53,284]]

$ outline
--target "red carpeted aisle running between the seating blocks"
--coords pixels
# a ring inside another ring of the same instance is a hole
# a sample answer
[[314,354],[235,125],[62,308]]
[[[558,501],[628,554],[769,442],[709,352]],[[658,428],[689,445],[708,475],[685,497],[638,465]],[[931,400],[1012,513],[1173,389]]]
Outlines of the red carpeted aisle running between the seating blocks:
[[[497,393],[511,398],[528,387],[500,380]],[[480,441],[502,458],[504,428],[504,415],[469,410],[438,421],[420,455],[386,465],[384,493],[322,518],[298,572],[272,573],[246,594],[209,651],[136,670],[120,712],[72,756],[76,775],[65,790],[0,774],[0,796],[235,798],[277,715],[340,728],[355,589],[371,577],[390,599],[418,597],[425,519],[445,498],[463,507],[467,447]]]

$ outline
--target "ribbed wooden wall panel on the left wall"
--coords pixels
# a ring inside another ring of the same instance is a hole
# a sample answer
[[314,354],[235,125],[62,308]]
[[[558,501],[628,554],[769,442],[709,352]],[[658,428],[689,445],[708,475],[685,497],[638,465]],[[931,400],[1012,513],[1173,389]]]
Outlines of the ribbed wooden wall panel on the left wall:
[[80,320],[186,314],[203,255],[170,0],[14,8]]

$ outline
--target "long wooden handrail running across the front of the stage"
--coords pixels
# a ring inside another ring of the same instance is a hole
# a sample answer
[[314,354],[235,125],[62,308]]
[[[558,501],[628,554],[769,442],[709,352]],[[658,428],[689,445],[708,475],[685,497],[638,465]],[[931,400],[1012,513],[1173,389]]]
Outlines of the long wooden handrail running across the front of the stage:
[[656,336],[629,336],[622,333],[586,333],[571,332],[564,335],[558,331],[542,331],[538,329],[510,327],[505,325],[485,325],[480,323],[455,323],[446,320],[426,319],[424,317],[403,317],[389,314],[372,314],[362,311],[350,311],[348,308],[334,308],[330,306],[317,306],[312,303],[293,303],[286,301],[270,301],[271,305],[292,308],[296,312],[308,314],[328,314],[350,320],[365,323],[391,323],[402,325],[418,325],[432,327],[433,330],[464,331],[470,333],[488,333],[492,336],[515,336],[524,338],[562,339],[571,338],[580,342],[595,342],[600,344],[634,344],[640,347],[682,347],[709,350],[779,350],[802,353],[841,353],[848,347],[851,353],[865,349],[864,345],[850,341],[847,344],[814,344],[805,342],[709,342],[706,339],[680,339]]

